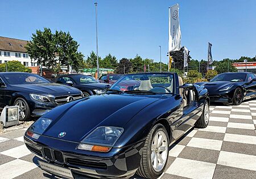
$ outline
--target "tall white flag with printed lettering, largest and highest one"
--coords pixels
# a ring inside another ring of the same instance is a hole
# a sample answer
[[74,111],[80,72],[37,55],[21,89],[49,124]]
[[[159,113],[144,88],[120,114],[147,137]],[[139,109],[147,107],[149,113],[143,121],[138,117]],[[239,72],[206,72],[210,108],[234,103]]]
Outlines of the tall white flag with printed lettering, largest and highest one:
[[179,24],[179,5],[169,7],[169,52],[180,50],[181,32]]

